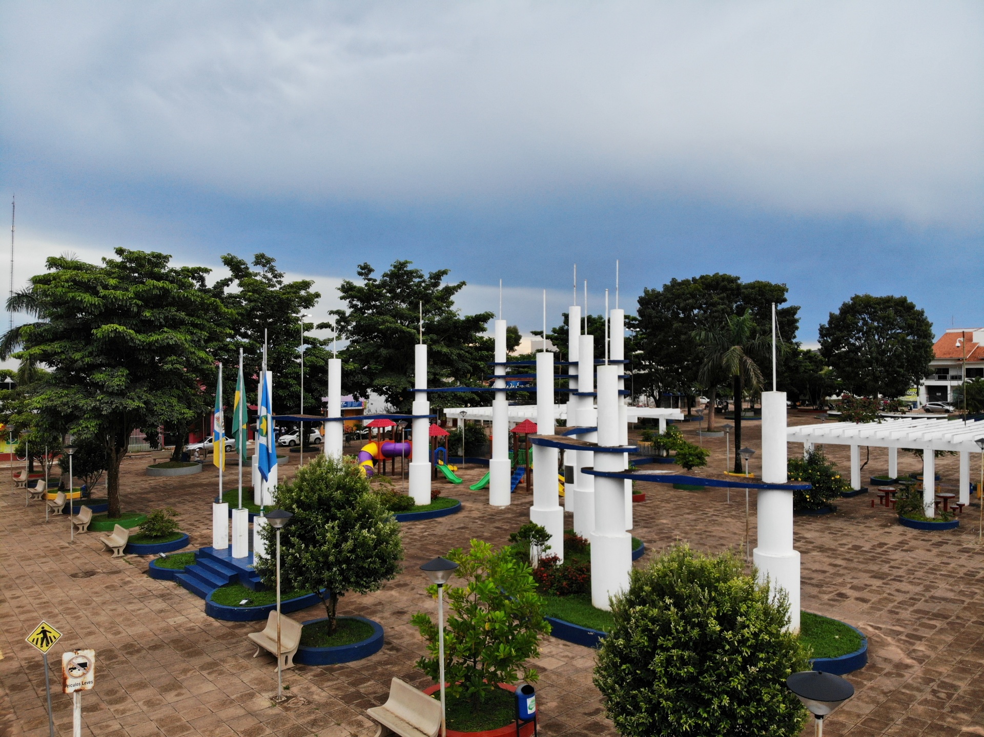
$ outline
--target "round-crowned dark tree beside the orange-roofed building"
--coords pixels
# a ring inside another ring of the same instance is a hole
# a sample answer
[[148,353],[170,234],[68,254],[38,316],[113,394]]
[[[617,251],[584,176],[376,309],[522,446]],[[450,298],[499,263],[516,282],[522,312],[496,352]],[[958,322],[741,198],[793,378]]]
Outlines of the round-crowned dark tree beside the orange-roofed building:
[[820,326],[820,352],[858,397],[901,397],[929,373],[933,325],[905,297],[855,294]]

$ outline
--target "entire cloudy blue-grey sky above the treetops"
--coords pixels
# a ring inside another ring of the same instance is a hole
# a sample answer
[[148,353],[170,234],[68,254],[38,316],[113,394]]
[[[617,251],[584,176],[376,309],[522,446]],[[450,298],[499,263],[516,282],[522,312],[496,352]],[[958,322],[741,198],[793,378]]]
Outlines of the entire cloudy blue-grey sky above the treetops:
[[783,282],[808,345],[855,293],[984,326],[979,2],[14,1],[0,64],[17,287],[65,252],[263,251],[324,314],[406,259],[466,312],[502,279],[528,331],[575,263],[614,306],[618,260],[630,311]]

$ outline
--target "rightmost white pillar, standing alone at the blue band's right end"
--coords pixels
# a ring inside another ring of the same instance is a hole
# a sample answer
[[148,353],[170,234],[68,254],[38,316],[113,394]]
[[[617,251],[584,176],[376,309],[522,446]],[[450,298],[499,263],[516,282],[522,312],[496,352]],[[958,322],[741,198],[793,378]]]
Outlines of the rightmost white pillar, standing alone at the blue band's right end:
[[[851,446],[852,458],[853,449]],[[783,484],[786,474],[786,393],[762,393],[762,480]],[[761,489],[758,496],[759,541],[753,560],[759,579],[789,599],[789,630],[800,628],[800,554],[793,549],[793,493]]]

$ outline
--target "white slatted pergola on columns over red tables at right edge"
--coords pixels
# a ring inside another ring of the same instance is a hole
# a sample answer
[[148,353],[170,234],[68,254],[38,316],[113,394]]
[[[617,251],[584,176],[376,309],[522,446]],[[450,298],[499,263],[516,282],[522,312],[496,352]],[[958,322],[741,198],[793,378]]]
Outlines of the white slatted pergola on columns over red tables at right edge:
[[[787,430],[790,443],[802,443],[806,453],[814,445],[845,445],[851,449],[851,488],[861,488],[861,446],[889,449],[889,476],[898,476],[898,449],[923,451],[923,478],[936,477],[932,451],[950,451],[960,459],[959,501],[970,502],[970,454],[980,453],[977,440],[984,438],[984,421],[919,417],[887,419],[883,422],[828,422],[800,425]],[[923,484],[923,506],[933,517],[933,483]]]

